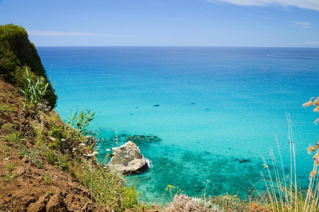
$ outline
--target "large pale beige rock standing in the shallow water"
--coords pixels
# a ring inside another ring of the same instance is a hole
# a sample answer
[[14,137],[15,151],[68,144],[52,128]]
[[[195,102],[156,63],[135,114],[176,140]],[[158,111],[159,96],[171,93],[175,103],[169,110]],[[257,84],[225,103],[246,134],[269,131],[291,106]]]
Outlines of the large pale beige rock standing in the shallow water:
[[113,157],[109,165],[113,165],[123,173],[139,172],[147,168],[145,157],[134,142],[126,142],[120,147],[113,147]]

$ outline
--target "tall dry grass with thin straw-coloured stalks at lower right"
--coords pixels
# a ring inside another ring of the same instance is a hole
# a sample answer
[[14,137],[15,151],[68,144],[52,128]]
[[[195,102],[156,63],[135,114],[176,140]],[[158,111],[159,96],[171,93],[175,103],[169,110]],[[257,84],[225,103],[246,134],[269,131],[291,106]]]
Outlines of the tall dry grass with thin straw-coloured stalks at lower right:
[[[279,153],[278,158],[272,150],[270,152],[270,163],[267,163],[263,158],[263,165],[266,169],[266,174],[261,172],[265,184],[264,191],[259,192],[256,190],[261,197],[261,203],[268,211],[315,212],[318,211],[319,180],[317,169],[319,164],[319,144],[308,148],[309,153],[316,151],[314,155],[315,163],[312,172],[310,172],[308,189],[303,188],[300,186],[296,173],[296,151],[290,115],[286,114],[286,118],[289,133],[290,164],[287,166],[283,163],[278,139],[276,137]],[[288,172],[285,171],[286,168],[289,168]]]

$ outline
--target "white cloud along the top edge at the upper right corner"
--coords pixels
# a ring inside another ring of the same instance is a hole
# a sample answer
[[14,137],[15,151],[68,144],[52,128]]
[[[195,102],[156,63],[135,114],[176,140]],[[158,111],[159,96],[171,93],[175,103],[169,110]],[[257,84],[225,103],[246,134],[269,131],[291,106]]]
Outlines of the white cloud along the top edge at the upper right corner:
[[282,7],[300,7],[319,11],[318,0],[206,0],[212,3],[230,3],[242,6],[282,6]]

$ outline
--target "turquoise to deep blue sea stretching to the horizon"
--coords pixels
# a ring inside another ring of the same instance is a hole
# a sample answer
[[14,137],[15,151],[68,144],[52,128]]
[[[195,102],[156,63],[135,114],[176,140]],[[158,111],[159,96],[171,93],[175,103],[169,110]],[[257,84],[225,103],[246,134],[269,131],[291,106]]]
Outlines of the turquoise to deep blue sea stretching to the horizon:
[[[167,185],[189,195],[245,194],[261,179],[260,155],[289,157],[286,112],[291,114],[297,173],[307,182],[317,140],[318,114],[301,105],[318,95],[318,48],[38,47],[59,97],[56,110],[96,111],[99,154],[129,135],[155,135],[138,143],[152,161],[128,176],[141,199],[159,199]],[[154,106],[159,105],[159,106]],[[275,151],[276,152],[276,151]],[[247,160],[247,161],[245,161]],[[249,180],[247,179],[249,178]]]

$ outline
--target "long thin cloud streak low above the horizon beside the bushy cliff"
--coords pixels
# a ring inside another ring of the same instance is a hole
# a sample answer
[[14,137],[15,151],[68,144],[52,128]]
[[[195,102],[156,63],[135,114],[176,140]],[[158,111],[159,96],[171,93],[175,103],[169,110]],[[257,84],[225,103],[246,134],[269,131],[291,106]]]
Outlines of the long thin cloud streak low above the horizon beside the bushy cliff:
[[82,33],[82,32],[59,32],[59,31],[28,31],[29,35],[41,36],[73,36],[73,37],[116,37],[116,38],[162,38],[158,36],[135,36],[116,35],[107,33]]

